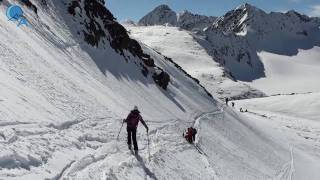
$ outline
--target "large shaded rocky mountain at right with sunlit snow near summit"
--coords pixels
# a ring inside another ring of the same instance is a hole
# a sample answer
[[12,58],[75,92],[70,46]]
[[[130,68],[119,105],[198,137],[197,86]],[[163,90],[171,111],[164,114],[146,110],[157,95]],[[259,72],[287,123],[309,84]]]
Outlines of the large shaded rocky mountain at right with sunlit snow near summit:
[[319,46],[319,26],[317,18],[295,11],[266,13],[244,4],[219,17],[205,33],[214,58],[236,79],[248,80],[253,70],[252,79],[265,76],[257,52],[293,56],[298,49]]

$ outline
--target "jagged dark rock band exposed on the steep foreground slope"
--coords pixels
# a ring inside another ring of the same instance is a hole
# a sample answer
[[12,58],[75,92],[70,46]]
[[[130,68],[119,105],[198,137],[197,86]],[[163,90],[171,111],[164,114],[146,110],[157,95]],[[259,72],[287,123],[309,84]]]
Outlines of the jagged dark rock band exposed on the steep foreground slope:
[[[104,4],[103,0],[71,0],[68,4],[68,12],[72,16],[82,17],[84,14],[87,16],[87,18],[82,18],[79,23],[84,26],[80,32],[82,31],[84,40],[88,44],[93,47],[104,47],[105,42],[109,42],[110,46],[126,60],[130,59],[130,56],[125,55],[124,51],[129,51],[134,57],[141,60],[141,63],[137,63],[137,65],[140,65],[141,73],[148,77],[151,70],[148,68],[156,67],[154,60],[143,52],[136,40],[129,37],[127,30],[116,21]],[[153,79],[163,89],[167,89],[170,75],[162,70],[162,73],[154,75]]]

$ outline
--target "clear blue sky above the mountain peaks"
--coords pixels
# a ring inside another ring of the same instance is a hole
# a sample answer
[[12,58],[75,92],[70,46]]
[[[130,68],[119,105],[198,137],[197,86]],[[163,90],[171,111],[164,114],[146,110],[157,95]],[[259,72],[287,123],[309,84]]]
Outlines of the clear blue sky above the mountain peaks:
[[221,16],[246,2],[267,12],[294,9],[320,17],[320,0],[106,0],[106,6],[119,21],[137,21],[160,4],[168,4],[176,12],[189,10],[198,14]]

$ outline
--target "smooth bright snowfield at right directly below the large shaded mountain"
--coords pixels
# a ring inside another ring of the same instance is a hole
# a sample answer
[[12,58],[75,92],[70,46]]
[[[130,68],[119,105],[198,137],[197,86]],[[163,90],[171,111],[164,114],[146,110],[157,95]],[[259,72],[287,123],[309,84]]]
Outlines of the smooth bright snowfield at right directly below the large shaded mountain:
[[320,92],[320,47],[295,56],[260,52],[266,77],[248,83],[267,94]]

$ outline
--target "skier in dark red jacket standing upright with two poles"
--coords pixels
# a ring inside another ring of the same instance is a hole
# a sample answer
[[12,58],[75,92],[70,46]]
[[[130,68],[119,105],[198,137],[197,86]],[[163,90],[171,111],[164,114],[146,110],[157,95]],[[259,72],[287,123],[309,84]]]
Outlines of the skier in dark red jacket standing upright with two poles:
[[140,111],[138,110],[137,106],[134,106],[133,110],[129,113],[128,117],[123,121],[127,123],[128,148],[131,150],[131,137],[132,137],[134,151],[135,153],[138,153],[137,127],[138,127],[139,121],[141,121],[143,126],[146,128],[147,132],[149,131],[149,128],[147,124],[144,122],[144,120],[142,119],[140,115]]

